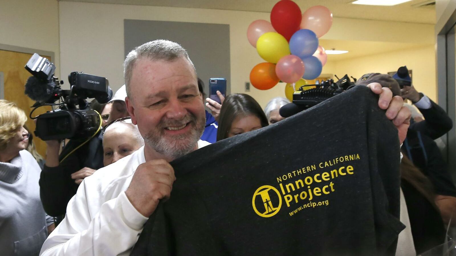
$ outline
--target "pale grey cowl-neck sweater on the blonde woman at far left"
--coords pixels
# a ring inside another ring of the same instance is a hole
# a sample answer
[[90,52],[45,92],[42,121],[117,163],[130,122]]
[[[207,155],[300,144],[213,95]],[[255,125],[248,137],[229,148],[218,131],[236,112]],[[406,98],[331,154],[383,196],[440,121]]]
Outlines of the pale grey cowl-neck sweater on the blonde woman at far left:
[[37,255],[52,217],[40,200],[41,168],[26,150],[0,162],[0,255]]

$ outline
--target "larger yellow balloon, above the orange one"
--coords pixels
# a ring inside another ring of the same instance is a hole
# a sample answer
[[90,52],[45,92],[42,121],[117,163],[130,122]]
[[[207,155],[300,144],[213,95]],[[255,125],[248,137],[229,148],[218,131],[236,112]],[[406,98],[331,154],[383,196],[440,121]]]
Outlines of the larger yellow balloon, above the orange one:
[[276,32],[267,32],[260,36],[257,51],[260,57],[271,63],[277,63],[281,57],[290,55],[288,41]]

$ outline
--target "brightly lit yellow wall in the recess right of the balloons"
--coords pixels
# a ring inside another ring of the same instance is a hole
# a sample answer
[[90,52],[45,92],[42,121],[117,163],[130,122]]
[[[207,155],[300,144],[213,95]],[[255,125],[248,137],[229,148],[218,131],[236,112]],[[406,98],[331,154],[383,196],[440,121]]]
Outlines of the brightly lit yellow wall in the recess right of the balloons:
[[335,63],[335,73],[337,76],[343,76],[347,73],[359,78],[365,73],[397,71],[398,67],[404,65],[412,70],[413,84],[416,89],[436,101],[434,46],[337,61]]

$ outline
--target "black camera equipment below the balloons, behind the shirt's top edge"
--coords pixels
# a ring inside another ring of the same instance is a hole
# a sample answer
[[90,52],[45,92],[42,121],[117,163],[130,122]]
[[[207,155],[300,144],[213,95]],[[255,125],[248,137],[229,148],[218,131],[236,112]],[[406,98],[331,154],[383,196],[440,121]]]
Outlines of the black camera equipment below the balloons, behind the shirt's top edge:
[[[353,80],[354,82],[350,80],[348,75],[345,75],[337,82],[334,82],[333,79],[329,79],[316,84],[303,85],[299,90],[293,92],[293,102],[280,108],[279,113],[282,117],[288,118],[307,108],[311,108],[318,103],[352,88],[355,86],[356,78],[353,78]],[[308,87],[315,88],[309,89]]]

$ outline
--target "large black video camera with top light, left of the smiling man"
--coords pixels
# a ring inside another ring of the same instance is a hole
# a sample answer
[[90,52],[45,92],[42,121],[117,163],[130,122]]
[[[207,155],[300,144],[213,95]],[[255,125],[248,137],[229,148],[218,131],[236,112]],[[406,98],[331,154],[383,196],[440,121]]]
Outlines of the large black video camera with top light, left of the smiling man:
[[[93,136],[101,127],[100,114],[88,107],[87,98],[95,98],[100,103],[108,102],[113,93],[108,79],[83,72],[68,75],[70,90],[63,90],[58,77],[54,77],[55,65],[37,53],[33,54],[25,66],[33,76],[27,79],[25,94],[36,103],[30,118],[36,120],[35,135],[42,140],[81,139]],[[59,101],[58,103],[57,100]],[[37,117],[33,111],[41,106],[59,108]]]

